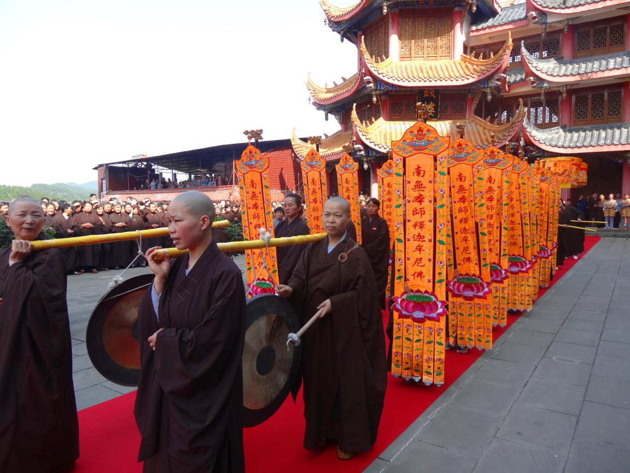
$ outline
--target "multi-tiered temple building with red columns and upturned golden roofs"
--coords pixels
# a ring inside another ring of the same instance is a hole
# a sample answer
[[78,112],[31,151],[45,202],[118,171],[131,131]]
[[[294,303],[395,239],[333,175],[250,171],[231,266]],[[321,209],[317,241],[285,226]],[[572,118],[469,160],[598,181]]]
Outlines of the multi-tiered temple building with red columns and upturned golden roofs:
[[[313,105],[341,126],[319,144],[331,171],[352,143],[360,188],[375,194],[375,170],[423,103],[452,139],[463,124],[479,148],[509,143],[530,161],[578,156],[588,163],[580,194],[630,192],[630,1],[320,4],[331,30],[357,47],[341,71],[348,78],[306,79]],[[297,156],[313,146],[295,131],[291,141]],[[328,182],[335,190],[334,172]]]

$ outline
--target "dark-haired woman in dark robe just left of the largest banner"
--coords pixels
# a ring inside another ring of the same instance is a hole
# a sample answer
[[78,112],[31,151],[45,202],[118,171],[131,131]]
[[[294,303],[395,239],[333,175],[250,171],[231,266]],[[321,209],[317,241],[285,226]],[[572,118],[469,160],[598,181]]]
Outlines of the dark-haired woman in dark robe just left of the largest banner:
[[387,272],[389,267],[389,227],[379,216],[381,202],[369,199],[365,205],[367,216],[361,221],[361,246],[370,260],[379,291],[381,308],[385,308],[385,289],[387,289]]

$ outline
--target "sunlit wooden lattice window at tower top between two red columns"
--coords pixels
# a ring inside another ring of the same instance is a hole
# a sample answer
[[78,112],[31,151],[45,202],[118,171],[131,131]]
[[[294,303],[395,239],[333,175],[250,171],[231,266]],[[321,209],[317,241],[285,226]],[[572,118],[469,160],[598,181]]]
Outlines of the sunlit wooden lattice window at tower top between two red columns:
[[450,59],[453,18],[447,11],[410,13],[400,21],[402,60]]

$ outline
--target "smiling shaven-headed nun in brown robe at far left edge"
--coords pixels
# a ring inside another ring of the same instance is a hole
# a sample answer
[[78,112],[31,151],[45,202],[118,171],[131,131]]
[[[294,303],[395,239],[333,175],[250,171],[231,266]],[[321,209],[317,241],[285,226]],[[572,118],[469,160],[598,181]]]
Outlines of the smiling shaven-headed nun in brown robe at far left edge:
[[16,240],[0,252],[0,471],[65,472],[79,457],[66,265],[32,250],[39,202],[16,199],[4,219]]

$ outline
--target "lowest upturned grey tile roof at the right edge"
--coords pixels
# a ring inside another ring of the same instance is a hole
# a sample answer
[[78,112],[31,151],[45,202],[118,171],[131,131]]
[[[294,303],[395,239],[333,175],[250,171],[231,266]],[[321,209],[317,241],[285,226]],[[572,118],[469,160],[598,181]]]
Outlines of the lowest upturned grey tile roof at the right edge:
[[523,120],[525,131],[534,141],[555,148],[585,148],[587,146],[610,146],[630,144],[630,123],[614,123],[567,128],[540,129],[529,120]]

